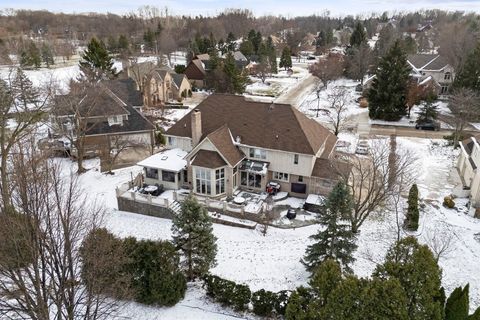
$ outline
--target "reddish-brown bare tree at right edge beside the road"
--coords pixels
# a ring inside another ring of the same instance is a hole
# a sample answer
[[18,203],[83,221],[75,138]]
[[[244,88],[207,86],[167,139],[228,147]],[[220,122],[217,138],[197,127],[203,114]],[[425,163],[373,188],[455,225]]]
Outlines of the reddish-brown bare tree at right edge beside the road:
[[457,89],[450,98],[449,108],[454,115],[453,146],[457,147],[469,122],[480,117],[480,97],[471,89]]

